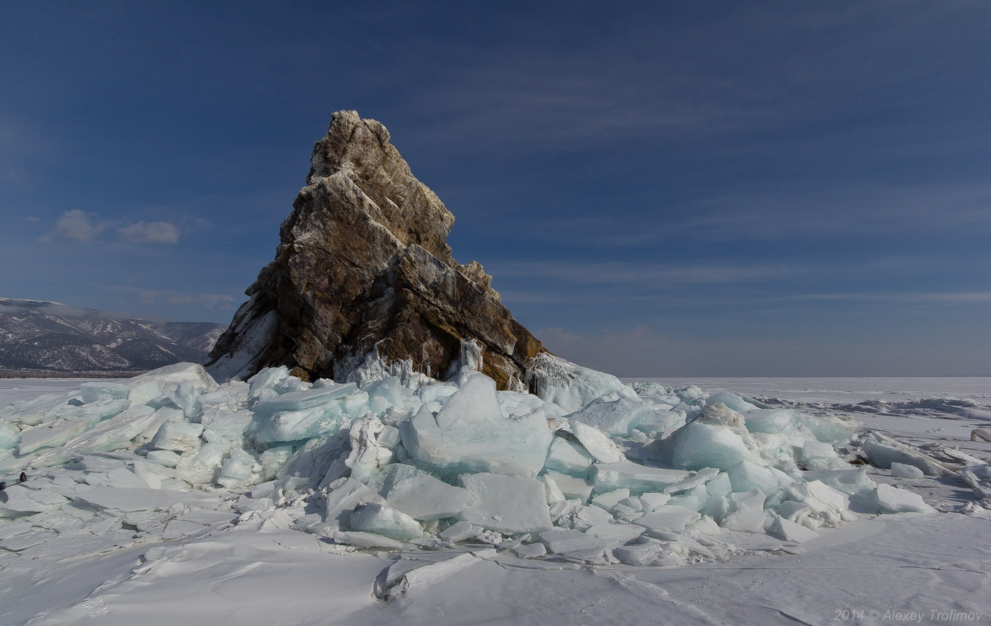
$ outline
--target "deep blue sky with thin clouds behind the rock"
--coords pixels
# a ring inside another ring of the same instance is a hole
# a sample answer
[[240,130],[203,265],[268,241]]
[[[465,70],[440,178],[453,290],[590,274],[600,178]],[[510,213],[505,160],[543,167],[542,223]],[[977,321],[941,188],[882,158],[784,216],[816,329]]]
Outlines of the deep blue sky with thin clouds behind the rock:
[[991,375],[984,0],[0,5],[0,296],[227,322],[330,114],[555,352]]

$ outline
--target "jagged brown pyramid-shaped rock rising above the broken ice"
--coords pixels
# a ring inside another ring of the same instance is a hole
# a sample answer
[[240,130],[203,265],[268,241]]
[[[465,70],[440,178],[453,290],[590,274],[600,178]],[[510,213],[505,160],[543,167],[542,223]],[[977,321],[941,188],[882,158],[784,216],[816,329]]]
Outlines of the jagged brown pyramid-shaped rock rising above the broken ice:
[[483,373],[500,389],[519,388],[540,342],[502,306],[481,265],[452,258],[454,215],[413,178],[385,127],[334,113],[310,163],[275,260],[207,358],[211,374],[285,365],[305,380],[344,381],[377,352],[442,377],[474,339]]

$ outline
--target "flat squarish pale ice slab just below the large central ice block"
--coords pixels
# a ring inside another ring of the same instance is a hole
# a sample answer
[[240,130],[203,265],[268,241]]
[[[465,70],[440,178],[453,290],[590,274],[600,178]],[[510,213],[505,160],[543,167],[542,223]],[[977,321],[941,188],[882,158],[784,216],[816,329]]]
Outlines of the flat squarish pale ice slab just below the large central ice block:
[[544,483],[527,476],[462,474],[461,484],[476,498],[458,517],[476,526],[508,533],[539,533],[552,528]]

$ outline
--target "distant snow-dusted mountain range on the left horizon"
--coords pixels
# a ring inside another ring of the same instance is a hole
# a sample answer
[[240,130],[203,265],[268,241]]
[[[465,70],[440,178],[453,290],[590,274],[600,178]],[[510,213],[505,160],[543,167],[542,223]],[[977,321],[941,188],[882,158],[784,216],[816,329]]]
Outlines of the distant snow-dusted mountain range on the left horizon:
[[0,377],[128,376],[198,363],[224,328],[0,298]]

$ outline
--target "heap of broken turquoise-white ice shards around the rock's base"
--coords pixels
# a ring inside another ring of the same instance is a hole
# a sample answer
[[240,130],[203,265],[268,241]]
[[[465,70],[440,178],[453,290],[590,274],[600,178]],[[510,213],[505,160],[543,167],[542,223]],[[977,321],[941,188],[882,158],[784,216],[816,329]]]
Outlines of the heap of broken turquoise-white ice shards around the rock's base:
[[675,564],[798,550],[854,512],[932,510],[837,454],[853,422],[550,355],[535,395],[496,391],[468,361],[447,382],[399,364],[222,385],[179,364],[11,405],[0,475],[32,478],[0,494],[0,547],[59,529],[169,539],[277,510],[341,550]]

